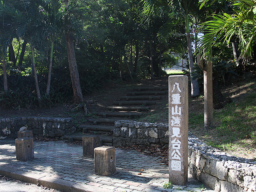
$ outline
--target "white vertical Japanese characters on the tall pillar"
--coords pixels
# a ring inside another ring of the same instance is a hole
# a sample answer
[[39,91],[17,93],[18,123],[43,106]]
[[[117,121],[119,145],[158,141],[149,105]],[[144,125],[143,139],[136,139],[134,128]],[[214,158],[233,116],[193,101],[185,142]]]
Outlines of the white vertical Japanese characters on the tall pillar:
[[172,117],[171,117],[171,128],[172,128],[172,138],[171,145],[171,169],[173,171],[181,171],[181,153],[180,153],[180,126],[181,126],[181,102],[180,95],[181,90],[179,88],[179,83],[175,82],[172,89]]

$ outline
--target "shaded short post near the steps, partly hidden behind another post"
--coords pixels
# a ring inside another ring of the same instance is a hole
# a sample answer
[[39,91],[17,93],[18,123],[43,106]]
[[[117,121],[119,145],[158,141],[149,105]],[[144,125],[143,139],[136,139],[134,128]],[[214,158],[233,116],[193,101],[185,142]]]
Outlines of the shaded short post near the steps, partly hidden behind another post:
[[94,148],[100,146],[100,136],[83,136],[83,156],[93,158]]

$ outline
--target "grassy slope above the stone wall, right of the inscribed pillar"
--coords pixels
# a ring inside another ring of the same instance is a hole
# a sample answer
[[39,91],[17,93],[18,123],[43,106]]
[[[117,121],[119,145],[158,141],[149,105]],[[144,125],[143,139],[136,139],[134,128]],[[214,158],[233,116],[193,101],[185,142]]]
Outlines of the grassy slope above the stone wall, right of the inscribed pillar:
[[[250,154],[256,150],[256,83],[247,83],[246,90],[237,87],[237,100],[213,113],[213,127],[204,130],[204,114],[189,114],[189,129],[210,146],[236,154]],[[244,87],[244,86],[243,86]],[[239,90],[240,89],[240,90]],[[241,95],[241,92],[243,95]]]

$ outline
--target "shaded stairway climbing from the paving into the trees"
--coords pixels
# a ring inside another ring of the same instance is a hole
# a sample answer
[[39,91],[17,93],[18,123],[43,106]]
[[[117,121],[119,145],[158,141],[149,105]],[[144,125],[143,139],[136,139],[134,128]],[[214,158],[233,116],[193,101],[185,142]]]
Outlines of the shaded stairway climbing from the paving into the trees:
[[[84,134],[99,135],[102,145],[112,146],[114,123],[117,120],[135,120],[149,113],[150,106],[161,100],[160,95],[168,95],[168,87],[137,86],[126,96],[113,102],[113,106],[104,108],[104,112],[94,113],[98,118],[88,119],[86,124],[79,125]],[[102,110],[102,108],[101,108]],[[82,136],[69,136],[82,141]],[[72,141],[72,139],[71,139]]]

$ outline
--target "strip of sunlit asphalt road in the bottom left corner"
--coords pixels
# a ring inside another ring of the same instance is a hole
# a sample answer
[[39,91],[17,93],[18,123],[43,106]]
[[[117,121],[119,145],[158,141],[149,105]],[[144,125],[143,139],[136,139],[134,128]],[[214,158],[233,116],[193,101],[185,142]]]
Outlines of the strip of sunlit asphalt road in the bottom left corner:
[[0,192],[61,192],[35,184],[20,182],[0,175]]

